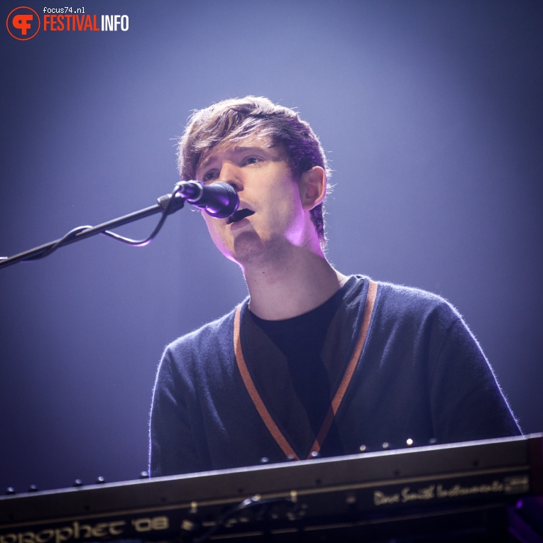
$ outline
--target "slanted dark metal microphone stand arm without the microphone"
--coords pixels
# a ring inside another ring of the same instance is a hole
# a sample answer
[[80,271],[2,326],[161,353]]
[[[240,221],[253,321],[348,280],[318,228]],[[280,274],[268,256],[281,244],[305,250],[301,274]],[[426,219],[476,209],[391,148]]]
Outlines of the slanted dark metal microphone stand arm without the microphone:
[[129,222],[138,221],[139,219],[143,219],[146,216],[162,212],[163,217],[162,219],[160,219],[157,228],[148,239],[148,241],[150,241],[153,236],[158,232],[160,226],[162,226],[166,216],[175,213],[179,209],[182,209],[185,204],[185,199],[186,198],[182,197],[180,194],[175,194],[174,197],[172,197],[172,194],[165,194],[164,196],[161,196],[157,199],[158,204],[155,204],[154,206],[140,209],[137,212],[121,216],[118,219],[113,219],[112,221],[104,222],[102,224],[99,224],[98,226],[82,226],[82,230],[80,231],[77,231],[77,229],[76,231],[70,231],[63,238],[51,241],[50,243],[45,243],[45,245],[35,247],[30,251],[25,251],[24,253],[19,253],[18,255],[11,256],[9,258],[0,257],[0,268],[6,268],[9,265],[21,262],[21,260],[35,260],[37,258],[41,258],[43,256],[46,256],[45,253],[53,252],[58,247],[68,245],[69,243],[75,243],[75,241],[80,241],[82,239],[89,238],[90,236],[102,234],[106,230],[114,229],[124,224],[128,224]]

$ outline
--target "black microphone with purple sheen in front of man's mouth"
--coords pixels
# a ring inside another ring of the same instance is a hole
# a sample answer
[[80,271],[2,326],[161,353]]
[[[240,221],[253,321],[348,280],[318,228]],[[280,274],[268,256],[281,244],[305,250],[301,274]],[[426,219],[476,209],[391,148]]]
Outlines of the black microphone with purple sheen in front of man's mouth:
[[238,193],[228,183],[218,181],[202,185],[199,181],[180,181],[174,193],[181,194],[186,202],[203,209],[215,219],[226,219],[236,212],[239,205]]

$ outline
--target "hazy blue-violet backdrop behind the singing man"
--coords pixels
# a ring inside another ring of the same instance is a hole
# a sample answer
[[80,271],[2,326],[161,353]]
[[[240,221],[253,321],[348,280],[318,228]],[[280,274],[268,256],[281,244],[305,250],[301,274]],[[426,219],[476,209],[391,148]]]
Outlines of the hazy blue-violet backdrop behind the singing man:
[[[192,109],[264,95],[329,152],[331,262],[450,300],[543,431],[542,1],[80,5],[129,30],[0,28],[0,255],[153,205]],[[190,209],[0,270],[0,493],[137,478],[165,345],[245,296]]]

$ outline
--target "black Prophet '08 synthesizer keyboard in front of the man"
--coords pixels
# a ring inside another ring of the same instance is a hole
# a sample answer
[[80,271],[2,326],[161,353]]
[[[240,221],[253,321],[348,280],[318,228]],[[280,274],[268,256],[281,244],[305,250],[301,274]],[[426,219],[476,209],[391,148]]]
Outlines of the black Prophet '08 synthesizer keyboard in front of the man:
[[6,495],[0,543],[524,541],[542,495],[532,434]]

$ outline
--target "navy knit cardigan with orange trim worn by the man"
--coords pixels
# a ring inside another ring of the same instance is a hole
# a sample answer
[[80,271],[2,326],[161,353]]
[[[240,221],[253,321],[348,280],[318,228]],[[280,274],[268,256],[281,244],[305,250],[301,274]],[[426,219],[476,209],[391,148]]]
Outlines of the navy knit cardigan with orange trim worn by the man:
[[[368,294],[353,303],[351,356]],[[241,344],[248,300],[241,306]],[[352,308],[351,308],[352,309]],[[280,393],[280,391],[278,391]],[[275,421],[284,431],[280,421]],[[336,412],[345,454],[505,437],[520,429],[476,339],[437,295],[379,283],[361,356]],[[331,440],[329,440],[331,441]],[[322,444],[322,456],[336,452]],[[150,475],[285,461],[243,383],[234,353],[234,311],[182,336],[163,355],[150,417]]]

